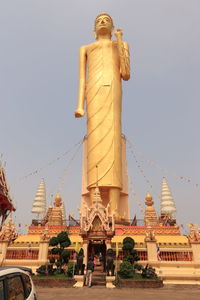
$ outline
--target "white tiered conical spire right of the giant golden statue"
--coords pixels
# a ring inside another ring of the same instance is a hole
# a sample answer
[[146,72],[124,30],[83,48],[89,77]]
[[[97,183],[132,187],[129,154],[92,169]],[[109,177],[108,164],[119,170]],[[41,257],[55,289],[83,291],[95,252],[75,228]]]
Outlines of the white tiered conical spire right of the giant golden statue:
[[165,177],[162,179],[161,187],[161,201],[160,201],[160,212],[161,215],[173,216],[176,212],[176,206],[169,189],[167,180]]

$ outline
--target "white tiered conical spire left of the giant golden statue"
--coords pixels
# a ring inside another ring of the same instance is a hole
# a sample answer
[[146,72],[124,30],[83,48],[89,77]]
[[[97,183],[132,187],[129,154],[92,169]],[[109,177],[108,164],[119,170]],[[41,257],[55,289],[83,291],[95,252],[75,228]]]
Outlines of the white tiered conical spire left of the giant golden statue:
[[37,193],[35,196],[35,200],[33,202],[32,213],[37,214],[44,214],[46,212],[46,187],[44,179],[41,180]]

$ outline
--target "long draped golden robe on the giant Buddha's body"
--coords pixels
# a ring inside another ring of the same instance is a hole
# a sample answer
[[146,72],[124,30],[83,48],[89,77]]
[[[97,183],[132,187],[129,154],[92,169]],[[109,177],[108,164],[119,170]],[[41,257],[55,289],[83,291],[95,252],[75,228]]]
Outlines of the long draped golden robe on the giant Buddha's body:
[[122,87],[117,42],[102,40],[88,45],[87,64],[88,189],[96,185],[97,177],[99,187],[121,189]]

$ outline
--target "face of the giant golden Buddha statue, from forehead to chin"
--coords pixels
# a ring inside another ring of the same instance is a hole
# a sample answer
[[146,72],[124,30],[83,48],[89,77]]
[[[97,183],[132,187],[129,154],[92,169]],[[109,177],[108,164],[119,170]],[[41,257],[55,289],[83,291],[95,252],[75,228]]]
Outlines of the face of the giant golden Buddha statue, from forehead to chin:
[[107,15],[100,15],[95,22],[95,33],[99,34],[112,34],[113,23],[112,19]]

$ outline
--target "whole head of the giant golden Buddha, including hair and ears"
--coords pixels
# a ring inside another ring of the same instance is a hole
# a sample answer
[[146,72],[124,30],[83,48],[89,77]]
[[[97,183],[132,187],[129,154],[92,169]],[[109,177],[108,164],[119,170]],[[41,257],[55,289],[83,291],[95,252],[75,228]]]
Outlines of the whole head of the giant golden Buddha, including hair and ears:
[[94,24],[94,34],[96,39],[98,39],[99,35],[109,35],[111,38],[113,29],[113,20],[110,15],[103,13],[96,17]]

